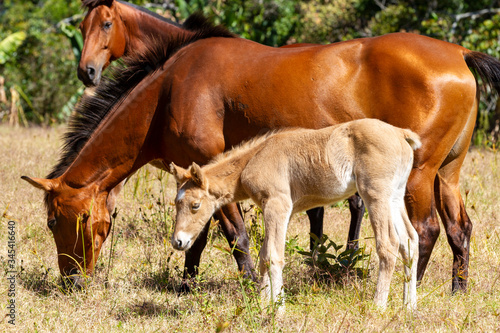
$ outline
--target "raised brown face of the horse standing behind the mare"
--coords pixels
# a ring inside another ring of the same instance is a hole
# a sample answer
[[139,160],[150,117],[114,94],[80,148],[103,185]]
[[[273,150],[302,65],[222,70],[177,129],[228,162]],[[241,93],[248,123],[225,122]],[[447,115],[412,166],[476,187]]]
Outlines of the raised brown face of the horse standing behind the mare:
[[102,71],[125,52],[125,26],[114,1],[89,9],[80,24],[83,51],[78,78],[86,86],[95,86]]

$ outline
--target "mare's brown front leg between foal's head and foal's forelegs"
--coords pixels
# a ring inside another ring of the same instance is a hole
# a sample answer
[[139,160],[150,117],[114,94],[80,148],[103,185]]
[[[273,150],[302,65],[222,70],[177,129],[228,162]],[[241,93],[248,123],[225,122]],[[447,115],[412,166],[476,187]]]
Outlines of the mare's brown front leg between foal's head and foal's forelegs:
[[229,246],[234,247],[233,256],[238,264],[238,269],[244,273],[246,278],[255,281],[257,278],[250,257],[250,241],[238,205],[233,203],[224,206],[216,215],[219,217],[222,231]]

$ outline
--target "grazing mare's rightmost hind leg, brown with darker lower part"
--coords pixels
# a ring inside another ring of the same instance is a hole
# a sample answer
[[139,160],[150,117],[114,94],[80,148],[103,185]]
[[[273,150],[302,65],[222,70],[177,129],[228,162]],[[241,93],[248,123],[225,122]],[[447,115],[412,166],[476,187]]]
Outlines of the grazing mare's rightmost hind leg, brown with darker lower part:
[[472,223],[460,194],[460,167],[466,150],[459,158],[443,166],[435,179],[436,208],[443,221],[448,243],[453,251],[452,291],[467,289],[469,244]]

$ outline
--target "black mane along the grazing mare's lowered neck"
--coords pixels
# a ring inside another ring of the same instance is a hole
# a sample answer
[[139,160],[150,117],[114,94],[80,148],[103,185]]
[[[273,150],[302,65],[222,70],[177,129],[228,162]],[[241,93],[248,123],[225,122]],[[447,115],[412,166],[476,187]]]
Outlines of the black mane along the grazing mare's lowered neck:
[[235,37],[226,28],[209,23],[201,14],[192,15],[186,22],[191,22],[190,27],[196,23],[199,28],[191,32],[186,31],[183,35],[163,37],[161,40],[158,36],[155,39],[152,37],[152,49],[144,54],[124,57],[121,64],[111,66],[96,87],[95,93],[82,98],[64,134],[61,157],[46,178],[53,179],[64,174],[114,106],[126,99],[145,77],[152,75],[179,49],[200,39]]

